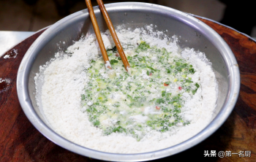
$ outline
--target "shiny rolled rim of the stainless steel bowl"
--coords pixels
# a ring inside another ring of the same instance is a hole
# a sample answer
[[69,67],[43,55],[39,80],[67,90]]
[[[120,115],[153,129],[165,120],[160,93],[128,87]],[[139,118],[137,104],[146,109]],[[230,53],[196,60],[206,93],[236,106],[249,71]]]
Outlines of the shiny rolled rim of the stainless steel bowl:
[[[169,14],[171,13],[177,16],[181,16],[182,18],[187,18],[186,20],[189,20],[191,23],[194,23],[195,26],[199,26],[203,31],[206,31],[206,33],[209,34],[209,36],[211,36],[215,41],[217,40],[216,41],[217,48],[218,50],[222,49],[221,54],[222,54],[222,57],[224,57],[225,59],[227,71],[230,76],[229,82],[228,82],[229,98],[227,99],[227,101],[225,101],[225,104],[222,110],[217,115],[217,117],[215,117],[214,120],[212,120],[211,123],[208,126],[206,126],[206,128],[203,129],[203,131],[200,131],[198,134],[196,134],[192,138],[187,139],[186,141],[181,142],[180,144],[176,144],[172,147],[167,147],[165,149],[156,150],[149,153],[136,153],[136,154],[105,153],[102,151],[92,150],[86,147],[82,147],[78,144],[70,142],[69,140],[59,136],[59,134],[56,134],[55,131],[53,131],[51,128],[46,126],[45,123],[43,123],[43,121],[37,115],[37,112],[34,111],[34,107],[32,106],[31,100],[29,98],[27,81],[28,81],[28,76],[31,69],[31,63],[33,63],[33,60],[34,60],[33,57],[36,55],[35,52],[37,51],[37,47],[40,46],[40,44],[45,41],[45,38],[48,37],[48,34],[58,29],[60,24],[63,24],[72,18],[77,18],[84,14],[88,15],[89,13],[87,9],[83,9],[79,12],[75,12],[74,14],[67,16],[66,18],[59,20],[57,23],[53,24],[53,26],[50,26],[44,33],[42,33],[37,38],[37,40],[31,45],[31,47],[29,47],[29,50],[26,52],[26,55],[24,55],[23,60],[21,61],[18,69],[18,77],[17,77],[18,99],[20,101],[20,105],[23,109],[23,112],[25,112],[26,114],[26,117],[28,117],[31,123],[37,128],[37,130],[40,131],[48,139],[50,139],[50,141],[74,153],[78,153],[80,155],[85,155],[87,157],[97,158],[105,161],[146,161],[146,160],[153,160],[157,158],[163,158],[169,155],[174,155],[176,153],[180,153],[184,150],[189,149],[190,147],[195,146],[195,144],[202,142],[208,136],[213,134],[214,131],[216,131],[220,126],[222,126],[222,123],[225,122],[227,117],[232,112],[233,107],[236,104],[236,100],[238,99],[238,93],[240,88],[240,74],[237,66],[238,64],[235,56],[230,50],[230,47],[228,47],[227,43],[222,39],[221,36],[219,36],[219,34],[217,34],[216,31],[214,31],[212,28],[207,26],[202,21],[197,20],[196,18],[193,18],[191,15],[188,15],[187,13],[184,13],[169,7],[163,7],[157,4],[146,4],[146,3],[140,3],[140,2],[120,2],[120,3],[114,3],[114,4],[105,4],[106,9],[113,9],[115,7],[122,7],[124,9],[129,9],[129,7],[131,6],[132,7],[154,7],[154,9],[156,10],[158,9],[161,12],[166,12]],[[94,7],[94,9],[95,9],[95,12],[96,11],[99,12],[99,9],[97,7]],[[225,53],[226,55],[224,55],[223,53]]]

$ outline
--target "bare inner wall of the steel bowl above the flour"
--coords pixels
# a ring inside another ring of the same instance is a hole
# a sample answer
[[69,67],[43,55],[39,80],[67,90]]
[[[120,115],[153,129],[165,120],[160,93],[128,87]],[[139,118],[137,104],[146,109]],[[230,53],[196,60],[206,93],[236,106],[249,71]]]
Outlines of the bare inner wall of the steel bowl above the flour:
[[[97,7],[94,7],[94,9],[96,9],[94,12],[97,17],[100,31],[106,31],[108,26],[106,25],[105,20],[102,18],[99,9],[97,9]],[[54,54],[60,49],[64,50],[70,45],[73,45],[74,42],[80,39],[82,34],[94,34],[94,28],[91,24],[89,14],[86,10],[83,10],[82,12],[83,13],[69,19],[67,22],[59,24],[59,27],[50,32],[48,37],[45,37],[45,45],[40,45],[40,47],[37,48],[37,57],[34,60],[29,74],[29,96],[34,109],[40,117],[42,117],[42,114],[38,109],[34,96],[35,74],[39,72],[39,66],[50,61],[50,58],[54,58]],[[124,25],[125,28],[135,29],[153,24],[154,26],[157,26],[156,29],[158,31],[164,31],[169,37],[173,35],[178,36],[178,45],[181,49],[183,47],[190,47],[205,53],[206,57],[212,63],[212,68],[218,82],[219,93],[217,107],[213,118],[219,113],[228,93],[227,66],[225,65],[225,61],[219,49],[215,47],[214,40],[209,38],[205,31],[202,31],[199,26],[181,18],[181,15],[159,12],[159,10],[152,10],[150,7],[135,7],[133,9],[126,7],[116,9],[114,6],[110,6],[108,7],[108,13],[114,27]],[[184,14],[183,17],[186,17],[186,14]],[[62,42],[65,42],[65,44]],[[44,117],[42,117],[42,120],[45,120]]]

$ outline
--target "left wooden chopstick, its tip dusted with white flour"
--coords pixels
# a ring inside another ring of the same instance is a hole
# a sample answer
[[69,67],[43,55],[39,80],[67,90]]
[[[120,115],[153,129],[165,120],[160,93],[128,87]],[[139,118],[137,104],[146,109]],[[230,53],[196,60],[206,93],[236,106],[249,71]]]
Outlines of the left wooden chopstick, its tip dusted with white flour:
[[94,31],[95,31],[97,40],[99,42],[99,48],[100,48],[100,50],[102,52],[102,57],[103,57],[103,59],[105,61],[105,66],[106,66],[106,68],[111,69],[111,65],[110,65],[110,62],[109,62],[109,59],[108,59],[108,54],[107,54],[107,51],[105,49],[105,45],[103,43],[102,36],[100,34],[100,31],[99,31],[99,26],[98,26],[98,23],[97,23],[95,14],[94,14],[94,9],[93,9],[93,7],[91,5],[91,0],[85,0],[85,1],[86,1],[86,6],[87,6],[87,8],[89,10],[89,14],[90,14],[90,18],[91,18],[91,23],[94,26]]

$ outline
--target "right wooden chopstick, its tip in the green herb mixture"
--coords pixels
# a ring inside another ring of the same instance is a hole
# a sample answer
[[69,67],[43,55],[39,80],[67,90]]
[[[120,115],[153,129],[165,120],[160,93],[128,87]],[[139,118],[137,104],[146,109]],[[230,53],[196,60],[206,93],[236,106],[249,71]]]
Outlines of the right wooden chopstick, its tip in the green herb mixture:
[[116,31],[115,31],[115,28],[113,27],[113,24],[110,20],[110,17],[108,15],[108,12],[107,10],[105,9],[105,6],[102,2],[102,0],[97,0],[97,3],[99,4],[99,9],[100,11],[102,12],[102,15],[108,25],[108,29],[110,30],[110,34],[111,36],[113,37],[113,41],[115,42],[116,44],[116,48],[118,50],[118,53],[121,57],[121,61],[123,61],[124,63],[124,68],[127,70],[128,72],[128,69],[129,69],[129,62],[127,61],[127,56],[124,54],[124,50],[123,48],[121,47],[121,43],[119,42],[119,39],[118,39],[118,36],[116,35]]

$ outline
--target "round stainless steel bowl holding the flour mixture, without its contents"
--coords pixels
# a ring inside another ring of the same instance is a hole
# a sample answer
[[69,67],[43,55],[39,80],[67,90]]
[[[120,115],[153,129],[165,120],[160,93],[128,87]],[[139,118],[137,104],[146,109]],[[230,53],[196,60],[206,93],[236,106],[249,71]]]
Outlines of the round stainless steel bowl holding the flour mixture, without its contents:
[[[154,24],[157,26],[157,30],[165,31],[167,36],[174,34],[181,36],[178,42],[181,48],[193,47],[195,50],[206,53],[217,77],[219,90],[217,106],[211,123],[192,138],[173,147],[138,154],[104,153],[74,144],[56,134],[48,126],[44,115],[37,107],[34,77],[39,72],[39,66],[50,61],[50,58],[54,58],[54,53],[59,50],[59,47],[66,49],[73,44],[73,41],[78,41],[82,34],[94,33],[89,12],[87,9],[83,9],[50,26],[31,45],[20,63],[17,78],[18,99],[26,116],[37,130],[52,142],[80,155],[107,161],[146,161],[187,150],[202,142],[222,126],[236,104],[240,77],[236,58],[221,36],[205,23],[187,13],[156,4],[129,2],[106,4],[105,7],[114,26],[125,25],[127,28],[138,28]],[[94,7],[94,11],[100,30],[105,31],[107,26],[98,7]],[[66,43],[59,44],[60,41]]]

